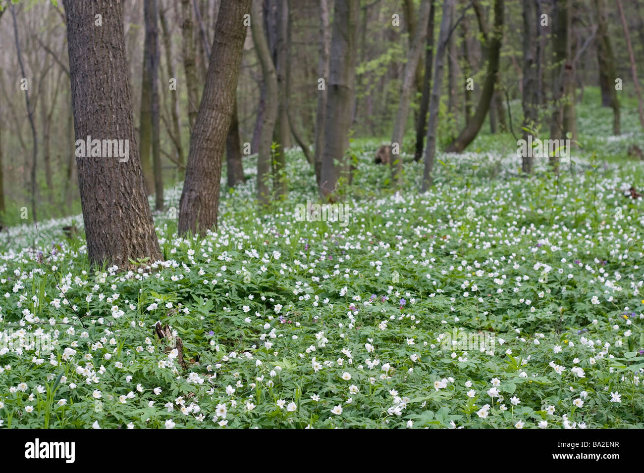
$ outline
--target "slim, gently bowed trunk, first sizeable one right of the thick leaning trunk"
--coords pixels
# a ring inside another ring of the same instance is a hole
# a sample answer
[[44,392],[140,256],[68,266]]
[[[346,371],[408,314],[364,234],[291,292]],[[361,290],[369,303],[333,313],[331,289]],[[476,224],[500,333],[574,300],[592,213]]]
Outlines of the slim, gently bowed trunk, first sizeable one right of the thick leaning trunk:
[[261,209],[270,202],[269,171],[272,160],[272,137],[278,116],[278,78],[264,32],[262,0],[252,0],[252,40],[255,43],[266,87],[266,102],[261,124],[257,158],[257,199]]

